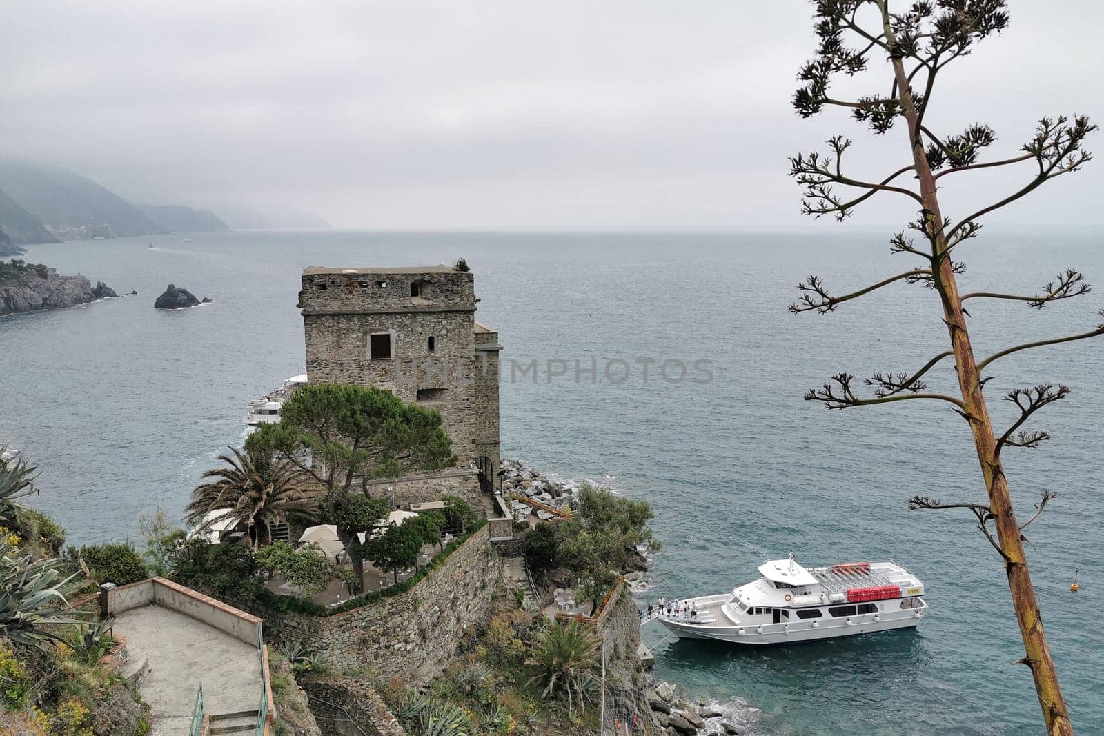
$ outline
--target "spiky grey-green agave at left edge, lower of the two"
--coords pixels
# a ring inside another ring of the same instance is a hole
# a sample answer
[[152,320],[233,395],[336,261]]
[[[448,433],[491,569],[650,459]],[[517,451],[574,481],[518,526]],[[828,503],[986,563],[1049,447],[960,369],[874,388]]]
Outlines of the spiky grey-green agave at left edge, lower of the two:
[[76,588],[76,575],[62,575],[62,563],[19,555],[0,537],[0,637],[42,648],[61,639],[56,627],[82,623],[68,610],[65,596]]

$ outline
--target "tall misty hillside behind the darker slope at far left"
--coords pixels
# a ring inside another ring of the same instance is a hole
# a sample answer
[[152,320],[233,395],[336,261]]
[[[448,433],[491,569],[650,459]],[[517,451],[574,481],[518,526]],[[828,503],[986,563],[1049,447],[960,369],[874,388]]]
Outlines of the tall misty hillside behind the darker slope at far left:
[[63,238],[151,235],[166,230],[119,195],[60,167],[0,158],[0,189]]

